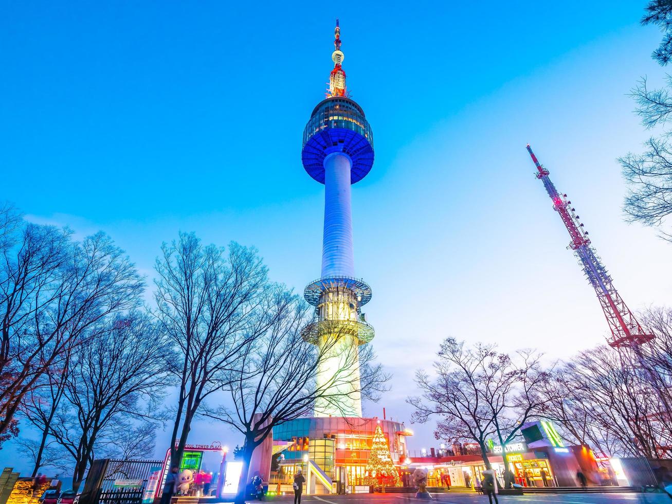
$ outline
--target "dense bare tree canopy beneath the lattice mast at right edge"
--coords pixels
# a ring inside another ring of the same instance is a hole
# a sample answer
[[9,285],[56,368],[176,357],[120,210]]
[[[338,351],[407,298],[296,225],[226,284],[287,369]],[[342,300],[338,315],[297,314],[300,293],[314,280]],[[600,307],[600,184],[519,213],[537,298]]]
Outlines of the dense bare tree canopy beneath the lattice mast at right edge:
[[656,338],[635,349],[601,346],[558,366],[542,393],[544,416],[569,442],[607,456],[661,458],[672,448],[672,310],[640,314]]

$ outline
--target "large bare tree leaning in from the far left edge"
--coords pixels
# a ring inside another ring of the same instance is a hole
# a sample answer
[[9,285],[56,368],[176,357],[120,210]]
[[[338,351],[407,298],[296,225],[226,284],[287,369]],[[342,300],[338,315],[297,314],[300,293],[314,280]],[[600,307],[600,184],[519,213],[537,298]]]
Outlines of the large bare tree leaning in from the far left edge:
[[136,306],[144,284],[103,233],[73,243],[52,226],[25,224],[0,267],[1,433],[40,377],[103,317]]

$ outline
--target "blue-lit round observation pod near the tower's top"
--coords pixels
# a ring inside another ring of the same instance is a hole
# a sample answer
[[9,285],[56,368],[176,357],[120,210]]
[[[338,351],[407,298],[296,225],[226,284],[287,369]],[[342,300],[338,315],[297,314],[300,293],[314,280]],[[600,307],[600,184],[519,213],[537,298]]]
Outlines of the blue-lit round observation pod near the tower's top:
[[374,136],[364,110],[343,96],[317,104],[303,132],[303,167],[313,179],[325,183],[325,157],[342,152],[352,160],[350,183],[366,177],[374,164]]

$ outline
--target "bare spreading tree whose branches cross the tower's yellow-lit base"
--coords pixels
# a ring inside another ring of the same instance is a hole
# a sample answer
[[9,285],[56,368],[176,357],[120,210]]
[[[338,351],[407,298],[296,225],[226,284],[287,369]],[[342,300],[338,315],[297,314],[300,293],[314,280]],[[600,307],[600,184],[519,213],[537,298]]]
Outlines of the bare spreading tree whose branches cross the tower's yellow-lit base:
[[[237,503],[245,501],[252,453],[276,425],[310,416],[326,405],[346,416],[349,399],[364,396],[376,401],[388,380],[372,347],[358,345],[352,328],[339,321],[308,325],[312,309],[284,287],[276,286],[259,310],[259,318],[270,323],[241,349],[241,362],[230,372],[228,403],[233,406],[204,412],[245,437]],[[313,344],[314,337],[319,344]],[[327,362],[333,374],[317,380]]]

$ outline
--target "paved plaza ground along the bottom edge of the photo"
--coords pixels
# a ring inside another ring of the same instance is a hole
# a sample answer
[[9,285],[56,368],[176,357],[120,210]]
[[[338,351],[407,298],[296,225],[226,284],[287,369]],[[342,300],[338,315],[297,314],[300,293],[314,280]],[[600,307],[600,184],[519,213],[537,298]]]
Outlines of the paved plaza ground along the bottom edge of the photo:
[[[670,504],[672,499],[660,493],[573,493],[550,495],[501,496],[499,502],[504,503],[549,503],[549,504]],[[294,497],[284,495],[271,497],[268,501],[293,502]],[[429,500],[415,499],[413,494],[360,494],[360,495],[304,495],[302,504],[483,504],[488,498],[475,493],[437,494]]]

